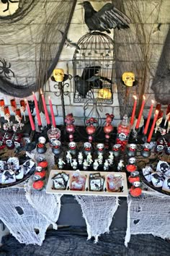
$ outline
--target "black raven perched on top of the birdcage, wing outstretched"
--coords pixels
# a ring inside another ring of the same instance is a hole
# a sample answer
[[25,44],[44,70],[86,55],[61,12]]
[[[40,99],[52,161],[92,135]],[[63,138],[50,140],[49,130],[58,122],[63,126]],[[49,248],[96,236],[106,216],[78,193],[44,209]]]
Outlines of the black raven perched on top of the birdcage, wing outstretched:
[[84,21],[89,30],[106,31],[117,27],[118,30],[129,28],[130,19],[128,16],[120,12],[113,4],[105,4],[99,12],[95,11],[89,1],[80,3],[84,7]]

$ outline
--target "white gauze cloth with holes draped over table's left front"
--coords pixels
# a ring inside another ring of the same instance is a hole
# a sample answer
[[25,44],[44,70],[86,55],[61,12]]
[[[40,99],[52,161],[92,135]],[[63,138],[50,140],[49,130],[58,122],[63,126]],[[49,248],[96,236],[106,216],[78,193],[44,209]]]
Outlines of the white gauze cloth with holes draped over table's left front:
[[27,202],[24,189],[1,189],[0,205],[1,221],[20,243],[42,244],[50,221]]

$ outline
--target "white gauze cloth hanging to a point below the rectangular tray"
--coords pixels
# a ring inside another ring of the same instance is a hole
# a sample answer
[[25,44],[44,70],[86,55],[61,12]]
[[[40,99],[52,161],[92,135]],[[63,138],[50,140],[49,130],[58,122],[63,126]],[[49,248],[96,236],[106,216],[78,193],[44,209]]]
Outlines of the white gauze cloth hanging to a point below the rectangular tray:
[[98,242],[98,237],[101,234],[109,232],[112,217],[119,205],[118,197],[86,195],[76,195],[75,197],[81,205],[83,217],[86,221],[88,239],[94,236],[95,242]]

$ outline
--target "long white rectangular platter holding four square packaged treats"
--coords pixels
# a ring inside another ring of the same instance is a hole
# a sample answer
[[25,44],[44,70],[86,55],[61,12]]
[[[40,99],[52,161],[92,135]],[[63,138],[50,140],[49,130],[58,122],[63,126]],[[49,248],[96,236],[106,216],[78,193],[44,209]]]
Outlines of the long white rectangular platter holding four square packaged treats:
[[[69,179],[66,185],[66,189],[55,189],[53,177],[57,174],[67,174],[69,175]],[[72,175],[78,173],[81,176],[86,177],[85,189],[84,190],[73,190],[71,188]],[[102,191],[91,191],[89,186],[89,175],[90,174],[100,174],[100,176],[104,176],[104,185]],[[107,191],[107,176],[109,174],[114,175],[114,177],[121,179],[122,181],[122,189],[121,191],[110,192]],[[46,187],[47,193],[52,194],[64,194],[64,195],[102,195],[102,196],[112,196],[112,197],[127,197],[128,196],[128,184],[126,174],[124,172],[107,172],[107,171],[66,171],[66,170],[51,170],[50,176],[48,178],[48,184]]]

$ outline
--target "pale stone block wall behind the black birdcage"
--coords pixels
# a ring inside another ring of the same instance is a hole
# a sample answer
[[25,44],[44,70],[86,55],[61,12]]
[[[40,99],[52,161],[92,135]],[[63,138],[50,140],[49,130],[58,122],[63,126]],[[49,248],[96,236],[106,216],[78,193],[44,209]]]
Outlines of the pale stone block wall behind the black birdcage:
[[[128,1],[132,0],[117,0],[115,1],[115,6],[119,9],[122,9],[129,17],[130,13],[128,11]],[[170,22],[170,1],[169,0],[158,0],[158,1],[150,1],[150,0],[133,0],[138,3],[140,15],[143,17],[143,26],[147,31],[153,30],[151,33],[151,38],[149,38],[150,44],[150,53],[151,53],[151,62],[150,68],[151,72],[148,72],[147,80],[146,80],[146,108],[144,111],[144,116],[147,117],[148,108],[151,103],[151,99],[154,99],[153,90],[151,90],[151,84],[153,80],[154,74],[156,74],[156,68],[158,66],[158,60],[161,56],[161,51],[164,47],[164,42],[166,39],[166,34],[169,30],[169,22]],[[88,32],[86,25],[84,24],[84,10],[81,6],[79,6],[79,2],[77,1],[76,9],[73,14],[73,18],[71,20],[71,26],[68,31],[68,38],[73,42],[77,42],[82,35]],[[104,4],[108,1],[91,1],[91,4],[95,9],[100,9]],[[156,8],[159,4],[160,9]],[[158,30],[158,24],[161,23],[160,30]],[[121,84],[120,77],[125,71],[133,71],[138,72],[136,68],[138,67],[138,51],[140,51],[140,44],[138,41],[138,27],[139,24],[130,24],[130,30],[115,30],[114,35],[111,34],[111,37],[115,40],[115,49],[116,49],[116,61],[119,67],[117,72],[117,86],[114,85],[113,88],[113,103],[112,105],[104,104],[102,111],[99,109],[99,114],[104,120],[105,114],[114,114],[115,119],[113,121],[114,125],[120,121],[120,114],[122,115],[123,111],[125,112],[125,101],[123,95],[125,95],[125,86]],[[122,38],[127,38],[127,40],[122,40]],[[20,42],[22,43],[22,42]],[[57,43],[57,42],[56,42]],[[140,43],[145,43],[141,41]],[[60,60],[58,61],[58,68],[64,69],[66,74],[73,74],[73,53],[75,48],[63,48],[63,51],[60,56]],[[140,79],[141,77],[138,77]],[[48,80],[46,84],[46,102],[48,103],[48,95],[52,98],[54,113],[56,116],[57,124],[63,124],[63,112],[61,107],[61,98],[56,97],[55,93],[58,89],[54,88],[55,82]],[[69,91],[68,95],[64,96],[65,105],[66,105],[66,114],[73,113],[73,116],[76,120],[76,125],[84,125],[84,105],[81,103],[73,103],[73,81],[69,82],[69,88],[66,88]],[[117,93],[118,90],[118,93]],[[132,95],[133,93],[138,93],[138,87],[134,87],[130,89],[130,95],[128,98],[128,102],[126,103],[126,111],[130,114],[132,109]],[[30,97],[32,98],[32,97]],[[170,98],[170,95],[169,95]],[[9,103],[9,97],[5,96],[6,103]],[[17,99],[19,102],[19,99]],[[93,106],[89,106],[89,111],[93,108]],[[166,106],[163,106],[166,108]],[[50,108],[48,106],[48,111],[50,113]],[[121,111],[121,113],[120,113]],[[91,116],[96,115],[96,111],[92,111]]]

